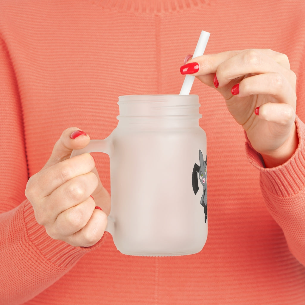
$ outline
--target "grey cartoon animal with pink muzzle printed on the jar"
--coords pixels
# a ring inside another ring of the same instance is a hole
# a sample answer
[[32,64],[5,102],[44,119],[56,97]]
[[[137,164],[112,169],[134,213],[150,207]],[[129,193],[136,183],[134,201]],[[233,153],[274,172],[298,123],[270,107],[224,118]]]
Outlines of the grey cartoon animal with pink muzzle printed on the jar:
[[203,194],[200,199],[200,204],[203,206],[203,210],[205,214],[204,222],[206,222],[207,221],[206,160],[205,161],[203,160],[203,155],[200,149],[199,149],[199,163],[200,166],[195,163],[193,167],[192,186],[193,186],[193,191],[196,195],[199,190],[199,186],[198,186],[198,174],[199,174],[199,180],[203,186]]

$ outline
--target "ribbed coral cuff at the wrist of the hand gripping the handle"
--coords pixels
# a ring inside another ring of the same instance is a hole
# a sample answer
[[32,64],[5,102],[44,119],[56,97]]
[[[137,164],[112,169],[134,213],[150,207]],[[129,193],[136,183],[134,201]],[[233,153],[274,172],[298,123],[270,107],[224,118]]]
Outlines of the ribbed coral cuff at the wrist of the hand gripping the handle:
[[72,267],[85,253],[99,247],[105,239],[104,235],[91,247],[74,247],[66,242],[52,239],[46,233],[45,227],[37,223],[31,203],[26,200],[23,204],[24,221],[30,242],[51,264],[60,268]]

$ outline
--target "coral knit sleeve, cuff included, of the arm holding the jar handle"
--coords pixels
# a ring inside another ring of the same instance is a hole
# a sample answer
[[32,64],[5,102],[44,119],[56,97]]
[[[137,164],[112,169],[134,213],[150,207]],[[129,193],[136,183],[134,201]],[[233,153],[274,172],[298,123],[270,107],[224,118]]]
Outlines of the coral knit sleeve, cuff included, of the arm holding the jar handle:
[[0,303],[32,299],[69,271],[84,253],[51,239],[24,195],[28,180],[18,82],[9,52],[0,40]]

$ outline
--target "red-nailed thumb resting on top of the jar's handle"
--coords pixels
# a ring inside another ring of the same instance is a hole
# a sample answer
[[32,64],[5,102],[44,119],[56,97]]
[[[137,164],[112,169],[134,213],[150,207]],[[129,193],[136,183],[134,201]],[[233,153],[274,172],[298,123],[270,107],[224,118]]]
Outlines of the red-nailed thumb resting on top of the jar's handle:
[[69,159],[73,149],[81,149],[89,144],[90,137],[77,127],[70,127],[63,131],[55,143],[52,154],[43,168],[48,168],[63,160]]

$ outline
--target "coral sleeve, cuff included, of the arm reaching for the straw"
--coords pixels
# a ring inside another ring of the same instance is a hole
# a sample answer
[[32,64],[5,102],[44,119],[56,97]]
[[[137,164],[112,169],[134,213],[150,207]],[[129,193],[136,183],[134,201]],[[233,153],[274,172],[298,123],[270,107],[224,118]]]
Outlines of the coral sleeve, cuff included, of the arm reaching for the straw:
[[260,170],[260,188],[269,212],[282,228],[291,253],[305,266],[305,124],[298,117],[296,127],[299,145],[284,164],[264,168],[248,139],[246,152]]

